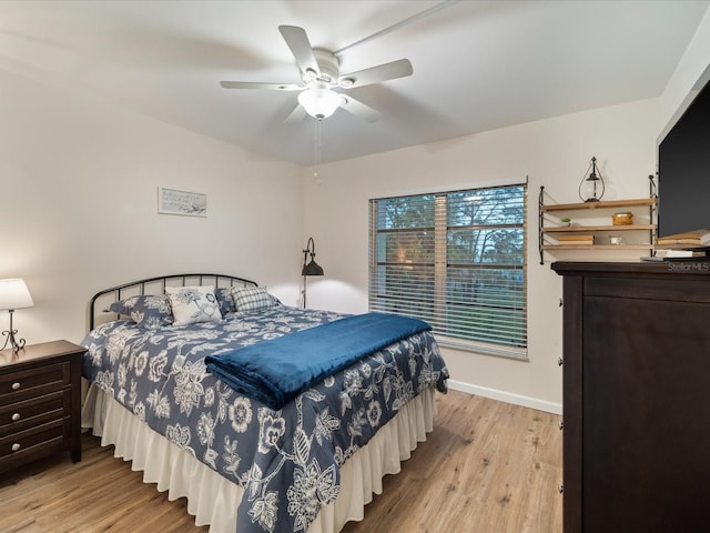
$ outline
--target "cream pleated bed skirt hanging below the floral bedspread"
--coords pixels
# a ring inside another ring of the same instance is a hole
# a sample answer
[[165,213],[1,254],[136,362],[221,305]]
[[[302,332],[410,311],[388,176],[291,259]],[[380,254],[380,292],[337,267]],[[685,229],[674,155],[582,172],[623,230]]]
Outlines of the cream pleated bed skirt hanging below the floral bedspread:
[[[366,446],[341,467],[341,492],[321,510],[308,533],[337,533],[348,521],[361,521],[373,494],[382,494],[382,480],[396,474],[418,442],[434,428],[435,390],[427,389],[407,403]],[[234,533],[236,507],[243,489],[185,453],[163,438],[112,396],[91,385],[82,411],[82,426],[101,436],[101,445],[113,444],[114,456],[131,461],[143,472],[144,483],[156,483],[169,500],[187,499],[195,524],[210,525],[210,533]],[[239,532],[237,532],[239,533]]]

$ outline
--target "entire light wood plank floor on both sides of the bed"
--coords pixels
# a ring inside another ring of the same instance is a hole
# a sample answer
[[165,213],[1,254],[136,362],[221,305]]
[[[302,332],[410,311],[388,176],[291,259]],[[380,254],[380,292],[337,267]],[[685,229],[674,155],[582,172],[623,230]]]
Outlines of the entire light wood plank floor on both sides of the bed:
[[[343,533],[561,532],[560,418],[457,391],[437,398],[427,442]],[[0,477],[0,533],[207,532],[184,499],[169,502],[141,475],[85,434],[80,463]]]

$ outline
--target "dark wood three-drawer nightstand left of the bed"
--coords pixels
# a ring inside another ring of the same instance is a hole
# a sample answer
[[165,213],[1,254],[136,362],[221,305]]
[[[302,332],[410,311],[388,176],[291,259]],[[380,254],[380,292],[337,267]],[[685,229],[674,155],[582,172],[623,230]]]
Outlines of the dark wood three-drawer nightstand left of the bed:
[[68,341],[0,351],[0,473],[69,451],[81,461],[81,358]]

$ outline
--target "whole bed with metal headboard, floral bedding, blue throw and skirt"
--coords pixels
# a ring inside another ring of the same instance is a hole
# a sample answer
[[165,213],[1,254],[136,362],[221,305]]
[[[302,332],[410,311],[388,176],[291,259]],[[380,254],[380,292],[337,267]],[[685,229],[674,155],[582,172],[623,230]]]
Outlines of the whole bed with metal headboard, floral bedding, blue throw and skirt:
[[[390,319],[399,320],[283,305],[221,274],[103,290],[82,341],[82,425],[144,482],[186,497],[213,533],[338,532],[363,520],[383,476],[426,439],[435,393],[446,392],[428,328],[408,321],[395,336],[375,335],[373,324]],[[373,338],[358,346],[367,353],[341,356],[346,329],[358,342]],[[240,359],[247,370],[224,373]],[[326,359],[342,362],[322,371]],[[253,394],[254,382],[270,394]]]

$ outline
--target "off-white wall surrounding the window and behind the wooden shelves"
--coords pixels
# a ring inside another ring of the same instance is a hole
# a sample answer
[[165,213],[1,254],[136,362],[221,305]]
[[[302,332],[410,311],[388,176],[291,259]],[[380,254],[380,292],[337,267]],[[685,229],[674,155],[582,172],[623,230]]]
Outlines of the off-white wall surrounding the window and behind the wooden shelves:
[[[647,100],[325,164],[317,169],[318,180],[306,169],[304,234],[315,238],[317,262],[326,274],[308,280],[310,305],[367,310],[371,198],[514,183],[528,177],[529,361],[444,352],[455,386],[559,412],[561,279],[550,270],[550,255],[539,264],[540,185],[557,202],[579,201],[579,182],[596,155],[607,181],[605,200],[646,198],[647,177],[656,171],[657,134],[658,100]],[[629,255],[606,259],[623,258]]]

